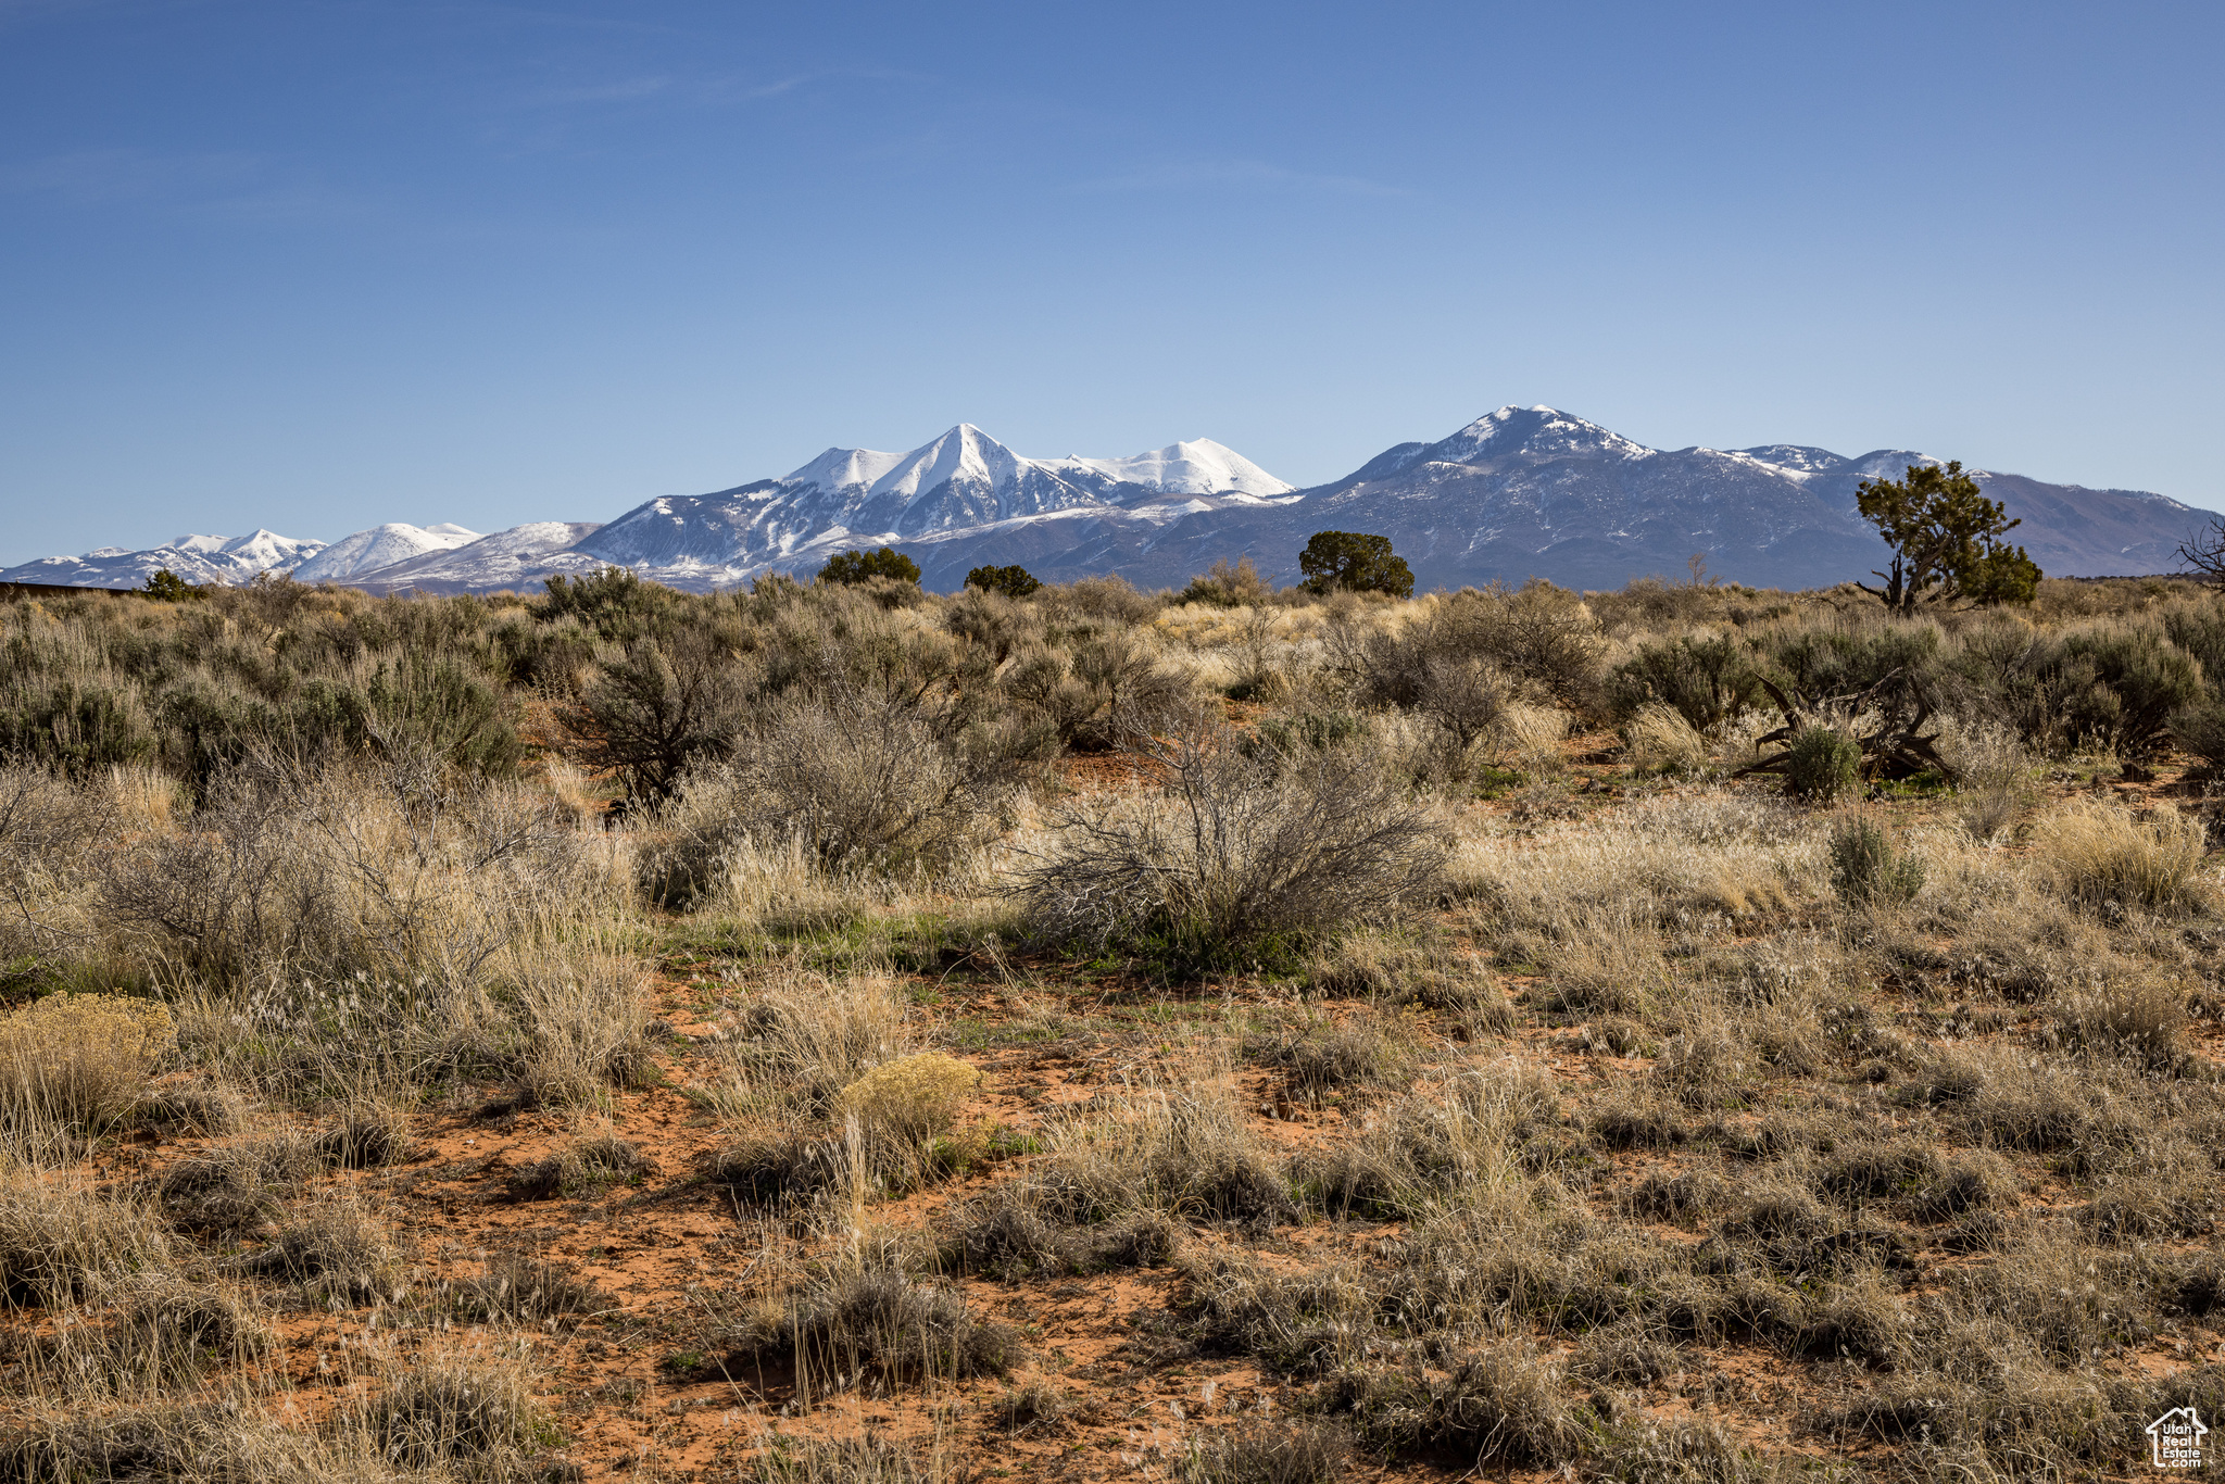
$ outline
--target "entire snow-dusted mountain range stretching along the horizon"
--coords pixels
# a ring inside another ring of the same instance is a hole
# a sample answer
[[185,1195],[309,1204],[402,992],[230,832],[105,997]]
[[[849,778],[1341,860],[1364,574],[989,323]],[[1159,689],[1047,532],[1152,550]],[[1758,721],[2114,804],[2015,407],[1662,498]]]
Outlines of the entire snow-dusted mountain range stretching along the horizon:
[[[0,581],[138,587],[158,567],[196,583],[269,570],[372,592],[492,592],[621,565],[701,592],[768,572],[808,576],[837,552],[894,545],[932,590],[1006,563],[1044,581],[1112,572],[1175,587],[1246,554],[1288,583],[1306,536],[1353,530],[1391,536],[1424,590],[1531,576],[1620,587],[1682,572],[1695,552],[1727,581],[1822,587],[1885,565],[1856,487],[1920,463],[1938,461],[1793,443],[1655,449],[1553,407],[1500,407],[1299,489],[1210,438],[1130,458],[1024,458],[961,423],[903,454],[828,449],[783,478],[652,498],[607,525],[534,521],[478,536],[392,523],[332,545],[271,532],[180,536],[151,552],[49,556]],[[1976,476],[2023,521],[2011,541],[2056,576],[2169,572],[2209,516],[2140,489]]]

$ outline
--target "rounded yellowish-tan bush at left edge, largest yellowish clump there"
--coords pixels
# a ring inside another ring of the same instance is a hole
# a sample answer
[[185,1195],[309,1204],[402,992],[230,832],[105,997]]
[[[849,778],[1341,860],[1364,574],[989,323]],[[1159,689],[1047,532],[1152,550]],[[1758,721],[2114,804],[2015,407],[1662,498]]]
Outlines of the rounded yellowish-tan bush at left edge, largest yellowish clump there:
[[0,1141],[18,1155],[127,1117],[174,1037],[165,1006],[122,995],[47,995],[0,1015]]

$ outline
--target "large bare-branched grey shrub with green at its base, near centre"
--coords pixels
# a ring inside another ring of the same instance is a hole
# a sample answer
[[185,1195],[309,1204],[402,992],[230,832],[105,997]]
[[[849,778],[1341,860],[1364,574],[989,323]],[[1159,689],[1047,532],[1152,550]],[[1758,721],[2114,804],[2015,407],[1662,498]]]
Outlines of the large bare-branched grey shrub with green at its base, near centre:
[[1226,730],[1146,748],[1161,792],[1059,812],[1017,870],[1039,934],[1173,972],[1290,957],[1437,890],[1446,834],[1353,748],[1246,754]]

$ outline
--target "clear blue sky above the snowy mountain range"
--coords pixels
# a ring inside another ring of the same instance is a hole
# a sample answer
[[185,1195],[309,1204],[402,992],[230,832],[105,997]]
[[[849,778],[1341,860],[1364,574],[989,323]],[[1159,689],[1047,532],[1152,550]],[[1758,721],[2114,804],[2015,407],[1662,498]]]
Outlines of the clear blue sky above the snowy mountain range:
[[2225,505],[2225,7],[0,0],[0,563],[1551,403]]

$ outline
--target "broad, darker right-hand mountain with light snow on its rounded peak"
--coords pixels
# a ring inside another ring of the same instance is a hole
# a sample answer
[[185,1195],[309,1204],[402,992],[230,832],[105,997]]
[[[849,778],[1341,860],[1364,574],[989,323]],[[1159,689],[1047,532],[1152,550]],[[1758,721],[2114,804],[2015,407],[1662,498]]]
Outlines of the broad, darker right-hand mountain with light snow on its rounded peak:
[[[1250,556],[1297,581],[1297,552],[1319,530],[1377,532],[1422,587],[1522,583],[1620,587],[1682,574],[1693,552],[1718,576],[1764,587],[1822,587],[1885,565],[1856,509],[1865,478],[1898,478],[1909,449],[1860,456],[1773,443],[1655,449],[1555,407],[1500,407],[1431,443],[1400,443],[1353,474],[1270,507],[1077,512],[1068,523],[1003,523],[968,538],[897,543],[930,587],[972,565],[1021,563],[1044,581],[1117,572],[1175,587],[1219,556]],[[2011,516],[2011,538],[2060,576],[2172,572],[2176,545],[2207,516],[2158,494],[2047,485],[1980,469]]]

